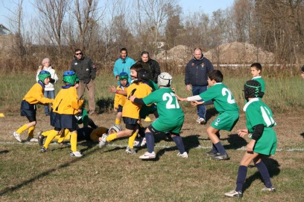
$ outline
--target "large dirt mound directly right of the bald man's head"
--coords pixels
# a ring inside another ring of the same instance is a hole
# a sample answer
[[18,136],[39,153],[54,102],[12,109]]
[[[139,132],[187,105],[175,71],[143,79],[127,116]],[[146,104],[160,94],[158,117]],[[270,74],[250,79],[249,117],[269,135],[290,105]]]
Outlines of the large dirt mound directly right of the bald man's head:
[[219,64],[241,64],[241,63],[274,63],[275,55],[271,52],[264,51],[261,48],[256,48],[252,44],[233,42],[222,44],[218,48],[214,48],[204,53],[212,63]]

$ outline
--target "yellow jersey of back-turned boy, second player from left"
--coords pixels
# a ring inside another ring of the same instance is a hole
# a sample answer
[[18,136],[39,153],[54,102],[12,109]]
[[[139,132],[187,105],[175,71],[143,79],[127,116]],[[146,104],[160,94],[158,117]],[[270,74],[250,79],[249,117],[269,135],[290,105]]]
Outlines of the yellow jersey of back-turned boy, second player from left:
[[61,89],[53,102],[53,112],[59,114],[78,114],[78,109],[84,100],[78,100],[77,90],[74,87]]

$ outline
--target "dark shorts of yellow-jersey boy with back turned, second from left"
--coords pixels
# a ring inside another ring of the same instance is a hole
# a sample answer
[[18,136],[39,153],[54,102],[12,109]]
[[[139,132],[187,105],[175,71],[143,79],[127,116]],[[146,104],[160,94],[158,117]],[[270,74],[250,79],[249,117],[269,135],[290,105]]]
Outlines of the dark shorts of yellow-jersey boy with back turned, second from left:
[[77,129],[77,118],[73,114],[59,114],[51,111],[51,126],[59,129]]

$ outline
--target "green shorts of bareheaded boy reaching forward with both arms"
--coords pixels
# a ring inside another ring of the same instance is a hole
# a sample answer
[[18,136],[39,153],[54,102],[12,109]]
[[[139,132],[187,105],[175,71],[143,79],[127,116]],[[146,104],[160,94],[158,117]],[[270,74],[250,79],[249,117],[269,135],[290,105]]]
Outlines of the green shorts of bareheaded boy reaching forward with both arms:
[[223,112],[211,123],[217,130],[231,131],[239,120],[239,112]]

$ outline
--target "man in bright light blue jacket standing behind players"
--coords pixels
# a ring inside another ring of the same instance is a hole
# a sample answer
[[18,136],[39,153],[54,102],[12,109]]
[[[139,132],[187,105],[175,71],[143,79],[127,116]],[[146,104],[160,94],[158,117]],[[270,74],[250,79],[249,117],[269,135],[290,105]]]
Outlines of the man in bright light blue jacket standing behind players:
[[119,82],[119,74],[121,72],[127,72],[129,75],[129,84],[131,84],[131,76],[130,76],[130,67],[135,64],[135,61],[132,58],[128,57],[128,51],[126,48],[121,49],[121,57],[115,62],[113,68],[113,74],[117,79],[117,84],[120,85]]

